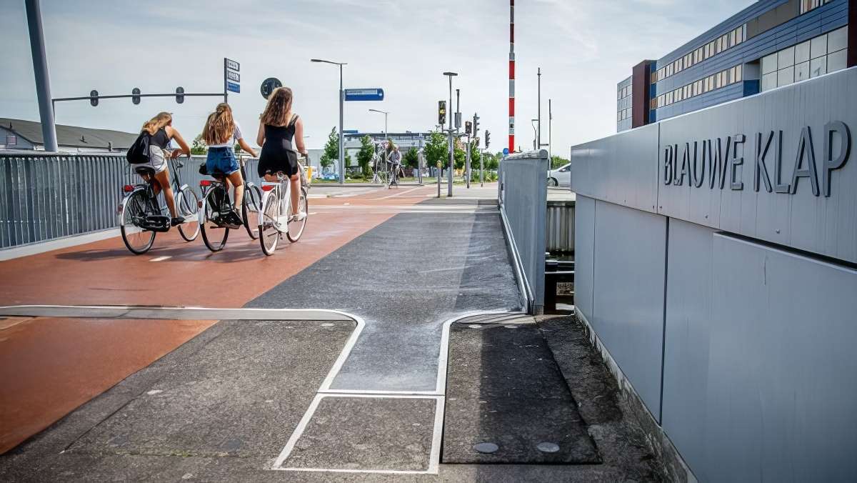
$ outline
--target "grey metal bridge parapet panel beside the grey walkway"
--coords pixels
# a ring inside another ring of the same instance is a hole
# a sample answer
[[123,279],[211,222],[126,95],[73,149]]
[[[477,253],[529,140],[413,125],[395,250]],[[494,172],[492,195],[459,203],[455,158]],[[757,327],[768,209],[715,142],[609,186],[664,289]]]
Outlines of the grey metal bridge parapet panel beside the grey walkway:
[[544,311],[548,152],[512,154],[500,162],[500,216],[531,314]]

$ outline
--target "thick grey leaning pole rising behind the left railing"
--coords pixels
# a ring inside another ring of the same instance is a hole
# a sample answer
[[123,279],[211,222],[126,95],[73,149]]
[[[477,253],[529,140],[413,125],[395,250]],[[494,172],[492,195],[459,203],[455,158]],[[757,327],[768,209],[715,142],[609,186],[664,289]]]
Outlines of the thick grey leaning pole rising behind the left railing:
[[56,152],[57,125],[54,122],[51,102],[51,78],[48,75],[48,57],[45,53],[45,33],[42,29],[42,9],[39,0],[25,0],[27,26],[30,31],[30,51],[33,52],[33,74],[36,78],[36,96],[39,98],[39,118],[42,121],[42,136],[45,151]]

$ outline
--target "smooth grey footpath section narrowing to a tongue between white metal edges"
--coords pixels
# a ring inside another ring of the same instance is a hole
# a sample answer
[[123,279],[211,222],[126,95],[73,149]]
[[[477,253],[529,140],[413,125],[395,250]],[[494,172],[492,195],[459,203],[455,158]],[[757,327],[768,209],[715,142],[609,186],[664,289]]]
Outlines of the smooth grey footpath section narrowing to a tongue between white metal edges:
[[520,302],[500,215],[449,213],[398,214],[247,306],[362,317],[332,389],[433,391],[444,321]]

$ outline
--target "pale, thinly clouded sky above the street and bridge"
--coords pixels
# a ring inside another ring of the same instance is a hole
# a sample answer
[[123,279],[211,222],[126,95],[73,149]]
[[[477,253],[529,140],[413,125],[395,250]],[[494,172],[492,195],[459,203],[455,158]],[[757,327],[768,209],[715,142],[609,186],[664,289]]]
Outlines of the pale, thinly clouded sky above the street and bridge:
[[[752,0],[518,0],[517,140],[532,146],[536,68],[542,68],[542,142],[554,100],[554,154],[615,132],[616,83],[635,63],[662,57]],[[339,72],[311,57],[347,62],[345,88],[384,88],[383,102],[345,103],[345,129],[428,130],[448,97],[442,72],[459,73],[464,118],[478,112],[492,151],[506,145],[506,0],[43,0],[54,97],[142,92],[218,92],[223,57],[241,63],[242,94],[230,103],[255,134],[259,85],[278,77],[296,96],[309,148],[339,123]],[[0,0],[0,117],[38,120],[23,0]],[[136,131],[159,111],[175,113],[186,138],[201,132],[216,98],[104,100],[57,105],[57,123]],[[248,136],[253,138],[255,136]]]

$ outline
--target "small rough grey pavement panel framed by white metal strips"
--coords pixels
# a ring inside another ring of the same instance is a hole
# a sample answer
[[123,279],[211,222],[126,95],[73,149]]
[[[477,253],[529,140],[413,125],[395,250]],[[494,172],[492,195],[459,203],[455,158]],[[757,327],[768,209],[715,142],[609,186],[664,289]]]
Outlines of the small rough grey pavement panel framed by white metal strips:
[[428,471],[436,398],[321,397],[282,468]]

